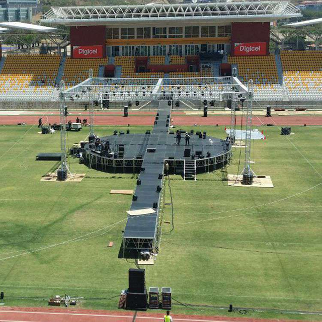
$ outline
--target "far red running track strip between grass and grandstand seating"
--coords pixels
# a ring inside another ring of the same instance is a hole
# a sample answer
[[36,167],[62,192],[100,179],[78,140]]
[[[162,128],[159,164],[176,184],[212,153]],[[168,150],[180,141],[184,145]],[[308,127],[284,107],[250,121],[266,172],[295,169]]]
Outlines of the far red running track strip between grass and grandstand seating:
[[[67,117],[67,121],[75,121],[76,116]],[[35,115],[1,115],[0,125],[15,125],[17,123],[25,122],[28,125],[38,124],[39,116]],[[173,125],[229,125],[230,116],[182,116],[173,115]],[[44,115],[43,123],[59,123],[58,115]],[[89,120],[89,118],[88,118]],[[123,117],[121,115],[100,115],[95,117],[95,125],[153,125],[153,116],[129,116]],[[237,123],[240,124],[241,118],[237,117]],[[264,116],[253,116],[253,125],[260,126],[263,124],[272,123],[276,125],[322,125],[322,116],[273,116],[271,118]]]

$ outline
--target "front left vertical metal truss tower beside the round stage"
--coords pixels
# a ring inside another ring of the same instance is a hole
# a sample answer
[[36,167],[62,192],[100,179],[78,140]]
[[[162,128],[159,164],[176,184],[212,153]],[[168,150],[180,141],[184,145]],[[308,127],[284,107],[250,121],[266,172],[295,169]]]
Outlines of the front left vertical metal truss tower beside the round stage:
[[67,107],[65,106],[65,82],[60,81],[60,151],[61,151],[61,165],[60,170],[69,172],[67,167],[67,144],[66,144],[66,112]]

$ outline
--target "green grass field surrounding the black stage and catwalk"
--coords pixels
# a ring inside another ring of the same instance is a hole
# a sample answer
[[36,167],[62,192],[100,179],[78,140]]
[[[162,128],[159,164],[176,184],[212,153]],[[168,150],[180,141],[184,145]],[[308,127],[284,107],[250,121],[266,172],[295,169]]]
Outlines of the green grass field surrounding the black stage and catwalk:
[[[114,128],[96,132],[108,135]],[[202,129],[225,136],[223,128]],[[174,230],[163,223],[159,255],[146,267],[148,287],[170,286],[176,300],[191,304],[321,310],[322,128],[292,127],[289,137],[277,127],[262,129],[267,140],[253,141],[253,170],[271,176],[275,188],[228,187],[224,171],[196,182],[171,176]],[[45,306],[49,297],[67,293],[86,297],[79,304],[84,308],[116,309],[128,269],[135,267],[117,258],[131,196],[109,191],[134,189],[136,177],[89,170],[70,158],[72,172],[86,173],[82,183],[41,182],[55,163],[36,162],[35,155],[58,152],[60,139],[58,132],[37,131],[0,127],[0,290],[6,305]],[[69,145],[86,136],[87,129],[69,133]],[[239,151],[229,174],[237,172]],[[166,203],[170,197],[166,180]],[[164,220],[171,220],[169,205]],[[228,314],[181,305],[173,312]],[[252,310],[246,316],[321,318]]]

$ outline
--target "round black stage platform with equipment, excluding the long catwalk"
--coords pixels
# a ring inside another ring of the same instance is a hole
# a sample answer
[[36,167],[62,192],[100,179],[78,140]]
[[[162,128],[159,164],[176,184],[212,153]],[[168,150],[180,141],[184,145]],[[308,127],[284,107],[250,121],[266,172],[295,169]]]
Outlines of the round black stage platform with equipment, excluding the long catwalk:
[[225,140],[197,131],[190,134],[190,145],[186,145],[186,132],[181,133],[180,145],[176,144],[175,132],[120,132],[100,137],[85,144],[82,160],[90,169],[109,173],[139,173],[144,159],[148,165],[167,162],[170,174],[183,174],[188,166],[194,167],[195,173],[205,173],[229,163],[231,145]]

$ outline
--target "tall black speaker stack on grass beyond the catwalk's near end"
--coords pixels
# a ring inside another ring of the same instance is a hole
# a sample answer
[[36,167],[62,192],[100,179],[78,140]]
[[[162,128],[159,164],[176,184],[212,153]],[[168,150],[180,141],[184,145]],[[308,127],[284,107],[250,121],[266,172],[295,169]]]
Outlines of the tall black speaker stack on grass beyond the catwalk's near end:
[[126,308],[130,310],[147,309],[145,270],[129,269],[129,288],[126,295]]

